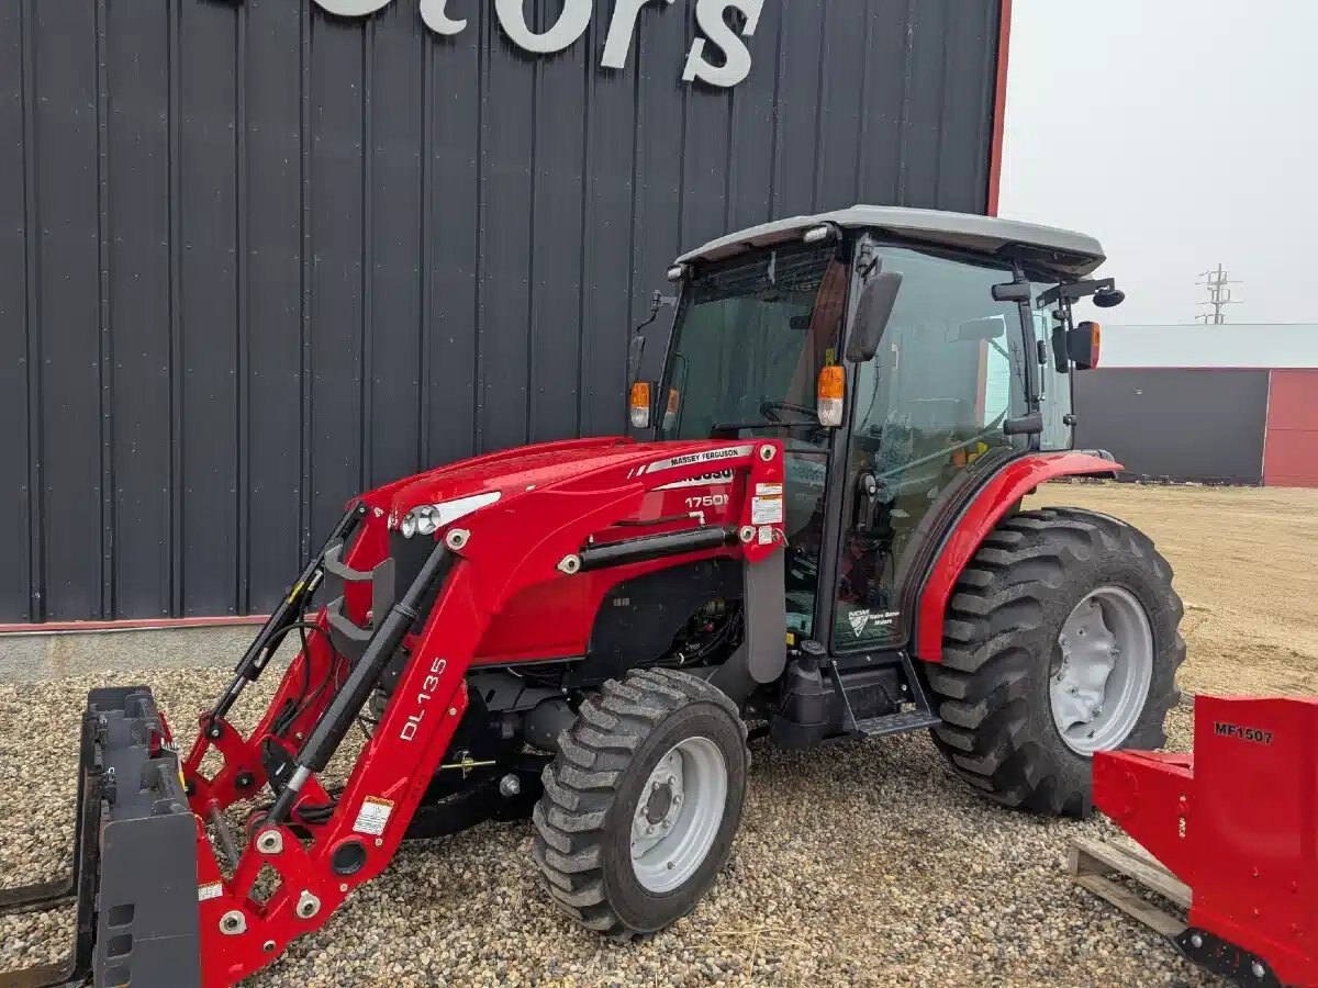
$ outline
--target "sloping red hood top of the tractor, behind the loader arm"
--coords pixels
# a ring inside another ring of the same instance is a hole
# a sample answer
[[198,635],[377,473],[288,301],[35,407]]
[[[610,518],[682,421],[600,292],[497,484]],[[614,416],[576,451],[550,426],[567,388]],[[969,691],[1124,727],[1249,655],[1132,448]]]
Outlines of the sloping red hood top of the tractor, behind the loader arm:
[[726,440],[637,443],[622,436],[539,443],[406,477],[365,494],[364,501],[387,512],[393,528],[398,519],[419,505],[438,505],[496,490],[507,498],[530,487],[542,489],[579,478],[598,468],[633,460],[646,464],[663,456],[726,445]]

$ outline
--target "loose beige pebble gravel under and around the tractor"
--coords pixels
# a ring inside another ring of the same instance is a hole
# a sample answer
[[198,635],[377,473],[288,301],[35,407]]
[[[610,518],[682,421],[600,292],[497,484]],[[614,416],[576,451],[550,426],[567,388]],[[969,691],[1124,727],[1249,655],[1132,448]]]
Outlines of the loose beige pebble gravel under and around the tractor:
[[[152,682],[183,734],[183,711],[225,678],[157,671],[0,688],[4,884],[66,867],[72,739],[91,685]],[[1189,710],[1174,710],[1173,747],[1189,746]],[[923,734],[807,752],[757,743],[753,754],[731,862],[693,914],[648,943],[614,946],[569,925],[540,889],[530,825],[484,825],[406,844],[323,930],[248,984],[1211,983],[1068,880],[1068,840],[1115,833],[1106,821],[991,806]],[[0,919],[0,970],[54,958],[70,925],[67,912]]]

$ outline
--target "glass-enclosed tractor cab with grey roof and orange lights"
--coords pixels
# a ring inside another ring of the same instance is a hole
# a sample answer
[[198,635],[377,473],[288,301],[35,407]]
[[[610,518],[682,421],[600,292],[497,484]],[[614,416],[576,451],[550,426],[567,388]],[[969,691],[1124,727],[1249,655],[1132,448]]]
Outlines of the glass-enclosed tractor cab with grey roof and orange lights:
[[780,439],[789,632],[833,655],[903,647],[981,481],[1070,449],[1070,373],[1099,336],[1072,303],[1122,300],[1085,281],[1103,260],[1079,233],[865,206],[716,240],[670,270],[676,319],[658,379],[634,378],[633,427]]

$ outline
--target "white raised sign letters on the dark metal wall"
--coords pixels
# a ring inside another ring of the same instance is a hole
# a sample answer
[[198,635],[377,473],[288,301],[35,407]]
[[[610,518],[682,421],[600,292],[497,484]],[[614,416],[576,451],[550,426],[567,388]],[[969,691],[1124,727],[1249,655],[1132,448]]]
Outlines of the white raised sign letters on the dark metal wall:
[[[340,17],[364,17],[389,7],[394,0],[316,0],[320,7]],[[426,26],[439,34],[457,34],[467,28],[465,18],[452,17],[448,12],[451,0],[420,0],[420,18]],[[489,0],[485,0],[489,3]],[[550,54],[571,47],[590,25],[594,0],[563,0],[563,13],[554,26],[543,34],[536,34],[526,22],[525,0],[493,0],[503,33],[518,47],[536,54]],[[605,69],[623,69],[631,40],[637,33],[637,20],[646,4],[671,7],[673,0],[616,0],[609,34],[604,42]],[[681,78],[685,82],[700,79],[710,86],[735,86],[750,75],[750,50],[745,38],[755,33],[764,0],[696,0],[696,22],[705,37],[696,38],[687,54],[687,67]],[[745,18],[738,34],[724,20],[728,11],[738,11]],[[721,59],[710,59],[705,54],[706,45],[722,50]],[[721,65],[718,63],[721,62]]]

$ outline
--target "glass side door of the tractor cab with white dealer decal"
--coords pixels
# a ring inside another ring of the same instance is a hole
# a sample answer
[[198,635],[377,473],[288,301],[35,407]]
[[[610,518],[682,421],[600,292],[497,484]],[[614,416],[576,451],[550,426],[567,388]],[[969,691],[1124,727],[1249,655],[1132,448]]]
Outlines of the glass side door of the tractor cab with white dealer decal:
[[834,588],[834,652],[896,647],[940,511],[975,474],[1028,448],[1003,423],[1027,411],[1024,328],[995,302],[1010,265],[875,249],[902,288],[875,358],[853,375]]

